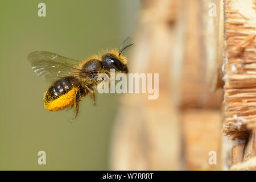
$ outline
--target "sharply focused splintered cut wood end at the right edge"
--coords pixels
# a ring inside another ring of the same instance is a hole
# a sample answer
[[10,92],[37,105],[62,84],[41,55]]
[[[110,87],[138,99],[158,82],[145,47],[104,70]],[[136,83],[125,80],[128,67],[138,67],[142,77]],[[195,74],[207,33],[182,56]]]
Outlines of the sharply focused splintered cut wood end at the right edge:
[[256,129],[256,1],[225,1],[224,134]]

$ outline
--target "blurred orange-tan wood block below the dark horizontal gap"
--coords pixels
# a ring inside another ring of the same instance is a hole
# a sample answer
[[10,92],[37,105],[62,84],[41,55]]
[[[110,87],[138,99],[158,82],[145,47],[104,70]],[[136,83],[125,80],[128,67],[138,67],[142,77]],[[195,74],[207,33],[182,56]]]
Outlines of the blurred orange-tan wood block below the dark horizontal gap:
[[[183,113],[185,164],[187,170],[221,169],[221,113],[193,109]],[[209,164],[209,152],[216,152],[217,163]]]

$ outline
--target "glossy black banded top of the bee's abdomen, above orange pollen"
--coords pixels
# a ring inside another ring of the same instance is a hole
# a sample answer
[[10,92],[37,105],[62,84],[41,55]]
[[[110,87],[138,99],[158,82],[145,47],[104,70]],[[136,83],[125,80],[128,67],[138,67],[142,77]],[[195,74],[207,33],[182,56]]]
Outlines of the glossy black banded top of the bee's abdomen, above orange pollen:
[[61,95],[68,93],[73,86],[77,85],[77,78],[74,76],[67,76],[60,78],[60,80],[55,81],[51,86],[49,86],[46,94],[46,100],[55,100]]

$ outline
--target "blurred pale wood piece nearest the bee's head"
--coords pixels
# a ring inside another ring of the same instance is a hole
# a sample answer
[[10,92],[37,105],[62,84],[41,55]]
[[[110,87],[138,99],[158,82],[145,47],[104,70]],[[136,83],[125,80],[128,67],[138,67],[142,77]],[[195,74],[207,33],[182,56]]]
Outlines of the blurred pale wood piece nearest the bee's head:
[[115,122],[110,168],[115,170],[181,169],[180,119],[171,98],[171,50],[179,1],[143,1],[135,32],[131,73],[159,73],[159,98],[123,97]]

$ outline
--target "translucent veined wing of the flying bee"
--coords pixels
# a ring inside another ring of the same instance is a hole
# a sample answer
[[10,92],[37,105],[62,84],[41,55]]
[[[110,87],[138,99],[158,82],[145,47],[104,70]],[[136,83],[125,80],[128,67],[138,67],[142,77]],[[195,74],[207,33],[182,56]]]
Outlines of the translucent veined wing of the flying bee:
[[80,69],[76,68],[80,61],[52,52],[31,52],[27,59],[31,64],[32,70],[49,84],[61,77],[77,75],[76,73],[80,71]]

